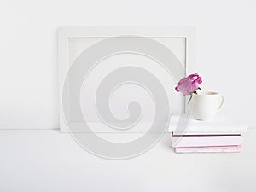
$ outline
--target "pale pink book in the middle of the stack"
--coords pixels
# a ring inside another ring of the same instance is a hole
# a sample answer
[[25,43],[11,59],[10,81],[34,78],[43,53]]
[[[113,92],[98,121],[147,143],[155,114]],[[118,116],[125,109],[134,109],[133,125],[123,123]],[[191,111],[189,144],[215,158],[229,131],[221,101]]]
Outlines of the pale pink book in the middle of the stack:
[[177,147],[204,147],[204,146],[230,146],[241,145],[243,137],[241,135],[226,136],[174,136],[172,135],[172,148]]

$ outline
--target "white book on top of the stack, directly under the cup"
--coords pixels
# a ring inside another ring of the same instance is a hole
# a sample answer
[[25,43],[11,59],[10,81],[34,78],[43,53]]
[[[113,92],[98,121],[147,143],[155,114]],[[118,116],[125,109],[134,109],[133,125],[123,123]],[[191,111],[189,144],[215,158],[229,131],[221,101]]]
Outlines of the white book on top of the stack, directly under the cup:
[[185,119],[184,116],[172,116],[169,132],[174,135],[237,135],[247,131],[247,125],[239,125],[233,120],[214,118],[208,121]]

